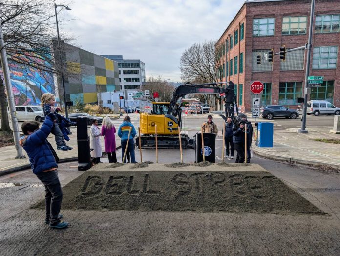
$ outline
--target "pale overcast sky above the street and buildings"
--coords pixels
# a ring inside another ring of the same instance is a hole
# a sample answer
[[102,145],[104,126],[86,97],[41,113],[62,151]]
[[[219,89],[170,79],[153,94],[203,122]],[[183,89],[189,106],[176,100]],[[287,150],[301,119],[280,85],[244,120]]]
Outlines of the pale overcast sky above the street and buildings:
[[98,55],[145,63],[147,78],[180,82],[179,61],[194,43],[218,39],[244,0],[74,0],[60,30]]

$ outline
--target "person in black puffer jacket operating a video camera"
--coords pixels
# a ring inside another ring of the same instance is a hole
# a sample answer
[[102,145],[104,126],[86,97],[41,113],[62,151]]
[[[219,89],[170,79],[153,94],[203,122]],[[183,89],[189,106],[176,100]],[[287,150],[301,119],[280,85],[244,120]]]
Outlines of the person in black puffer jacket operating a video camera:
[[[242,121],[246,121],[247,116],[245,114],[239,114],[239,118]],[[249,128],[247,128],[247,136],[249,136]],[[245,160],[245,145],[244,145],[244,125],[241,124],[239,127],[233,125],[233,142],[234,142],[234,149],[237,151],[236,161],[235,163],[243,163]]]

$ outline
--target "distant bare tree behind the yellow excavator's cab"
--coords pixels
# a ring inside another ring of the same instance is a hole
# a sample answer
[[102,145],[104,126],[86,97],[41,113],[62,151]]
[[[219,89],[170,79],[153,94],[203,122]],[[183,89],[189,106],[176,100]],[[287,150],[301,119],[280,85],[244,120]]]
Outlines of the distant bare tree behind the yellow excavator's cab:
[[172,93],[175,89],[175,86],[172,83],[162,79],[161,76],[158,77],[149,77],[147,82],[143,83],[141,91],[149,90],[150,98],[153,93],[158,92],[159,97],[164,102],[170,102],[172,98]]

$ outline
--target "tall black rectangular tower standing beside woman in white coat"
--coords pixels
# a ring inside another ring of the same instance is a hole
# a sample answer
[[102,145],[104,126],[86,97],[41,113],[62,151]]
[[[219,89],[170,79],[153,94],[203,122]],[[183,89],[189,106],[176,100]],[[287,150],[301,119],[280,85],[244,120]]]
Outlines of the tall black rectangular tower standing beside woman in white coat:
[[90,138],[87,134],[87,117],[77,117],[78,170],[91,168]]

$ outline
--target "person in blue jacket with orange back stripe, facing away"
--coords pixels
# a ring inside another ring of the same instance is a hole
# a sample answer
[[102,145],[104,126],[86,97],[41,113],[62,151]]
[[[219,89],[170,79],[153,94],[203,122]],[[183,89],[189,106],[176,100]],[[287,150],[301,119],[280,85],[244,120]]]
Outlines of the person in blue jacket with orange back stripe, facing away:
[[[128,137],[128,133],[130,130],[130,127],[132,127],[130,137]],[[133,138],[136,136],[136,129],[131,124],[131,118],[129,116],[124,117],[123,123],[119,126],[118,129],[118,136],[121,138],[121,145],[122,145],[122,161],[124,157],[124,150],[127,145],[127,155],[130,154],[131,156],[131,163],[137,163],[134,155],[134,142]],[[127,158],[127,157],[126,157]],[[124,162],[126,160],[124,159]]]

